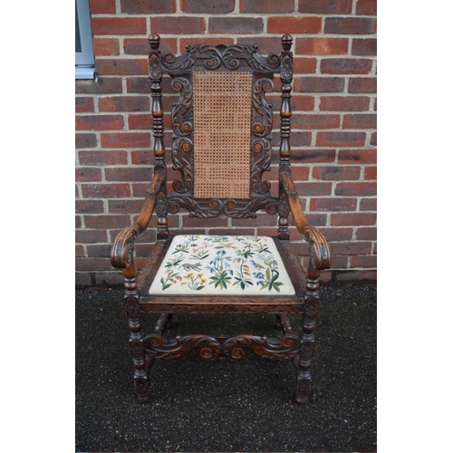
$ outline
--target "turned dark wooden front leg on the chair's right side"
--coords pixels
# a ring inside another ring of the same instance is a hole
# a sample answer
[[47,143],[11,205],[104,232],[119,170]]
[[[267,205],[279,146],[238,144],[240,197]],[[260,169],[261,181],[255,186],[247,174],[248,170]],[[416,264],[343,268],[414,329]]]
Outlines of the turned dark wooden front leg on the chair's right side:
[[302,325],[301,348],[299,356],[294,358],[294,365],[297,372],[295,400],[300,404],[308,402],[312,385],[312,372],[310,368],[314,354],[313,331],[318,316],[319,274],[319,271],[313,272],[313,269],[309,269],[307,287],[304,294],[304,321]]

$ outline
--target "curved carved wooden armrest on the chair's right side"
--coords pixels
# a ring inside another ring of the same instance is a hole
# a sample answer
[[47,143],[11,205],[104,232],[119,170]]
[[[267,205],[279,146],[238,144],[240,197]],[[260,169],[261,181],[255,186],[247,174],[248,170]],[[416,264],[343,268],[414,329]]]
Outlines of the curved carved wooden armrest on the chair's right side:
[[282,173],[281,178],[294,224],[308,244],[313,268],[319,271],[329,269],[332,265],[332,257],[325,237],[308,223],[291,176],[287,173]]

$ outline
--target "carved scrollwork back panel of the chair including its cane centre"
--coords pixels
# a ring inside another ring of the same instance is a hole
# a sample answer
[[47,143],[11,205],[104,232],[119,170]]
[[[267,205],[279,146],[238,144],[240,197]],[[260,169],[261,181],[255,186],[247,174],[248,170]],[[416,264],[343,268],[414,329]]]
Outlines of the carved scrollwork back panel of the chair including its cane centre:
[[258,209],[275,214],[278,199],[263,178],[273,127],[265,92],[273,89],[280,56],[264,57],[253,45],[196,44],[178,57],[151,53],[149,63],[151,81],[161,77],[161,64],[179,93],[171,156],[180,178],[166,199],[169,213],[183,207],[194,217],[255,217]]

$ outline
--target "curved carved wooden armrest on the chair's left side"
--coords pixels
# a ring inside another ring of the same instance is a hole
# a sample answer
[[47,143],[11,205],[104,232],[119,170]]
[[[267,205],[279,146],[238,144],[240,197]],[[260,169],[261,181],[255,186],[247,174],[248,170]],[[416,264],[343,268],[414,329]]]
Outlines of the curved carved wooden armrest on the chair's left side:
[[135,242],[149,225],[149,220],[154,211],[162,181],[163,173],[161,171],[156,172],[149,184],[147,197],[143,207],[141,207],[140,216],[137,219],[137,222],[131,226],[126,226],[120,231],[118,236],[116,236],[115,242],[111,247],[111,265],[113,267],[125,269],[131,264]]

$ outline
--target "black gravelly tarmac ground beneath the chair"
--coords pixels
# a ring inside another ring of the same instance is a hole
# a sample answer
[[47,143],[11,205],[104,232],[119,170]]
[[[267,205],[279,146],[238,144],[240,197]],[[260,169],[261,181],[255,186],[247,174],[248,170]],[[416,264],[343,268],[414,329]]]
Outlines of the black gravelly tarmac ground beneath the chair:
[[[146,318],[150,329],[155,317]],[[141,405],[132,390],[122,290],[78,289],[75,450],[376,451],[376,318],[375,286],[323,284],[306,406],[294,403],[291,362],[254,355],[239,362],[155,361],[151,401]],[[292,319],[299,327],[300,317]],[[275,336],[271,315],[182,315],[175,321],[172,335]]]

